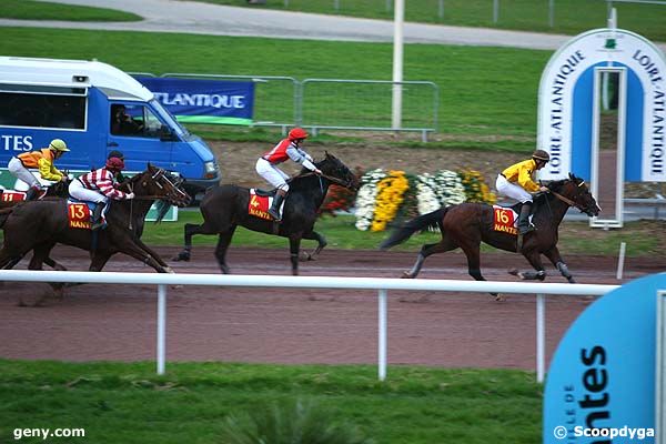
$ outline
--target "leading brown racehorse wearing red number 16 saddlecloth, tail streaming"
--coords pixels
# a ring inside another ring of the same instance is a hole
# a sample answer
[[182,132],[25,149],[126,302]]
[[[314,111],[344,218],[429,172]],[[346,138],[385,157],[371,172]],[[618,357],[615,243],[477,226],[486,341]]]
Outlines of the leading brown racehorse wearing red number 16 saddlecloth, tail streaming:
[[[536,210],[533,222],[537,230],[525,234],[519,249],[536,272],[518,273],[516,271],[512,274],[525,280],[543,281],[546,272],[541,261],[541,254],[544,254],[568,282],[574,283],[574,278],[557,250],[557,228],[569,206],[575,206],[589,216],[597,215],[601,209],[585,182],[571,173],[568,179],[551,182],[547,188],[549,191],[542,194],[535,202]],[[519,210],[518,205],[514,205],[516,211]],[[485,281],[481,274],[480,246],[482,241],[501,250],[518,252],[517,235],[496,231],[493,216],[493,206],[485,203],[461,203],[442,208],[406,222],[404,226],[395,230],[380,248],[382,250],[390,249],[404,242],[416,231],[428,226],[438,226],[442,240],[438,243],[423,245],[412,270],[405,272],[403,278],[416,278],[423,262],[431,254],[460,248],[467,256],[470,275],[477,281]]]

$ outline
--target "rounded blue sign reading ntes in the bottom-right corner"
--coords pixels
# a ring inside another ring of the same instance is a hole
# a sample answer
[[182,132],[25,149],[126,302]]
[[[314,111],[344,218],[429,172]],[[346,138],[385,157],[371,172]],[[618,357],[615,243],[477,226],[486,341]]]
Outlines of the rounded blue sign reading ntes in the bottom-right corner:
[[655,443],[659,291],[666,273],[606,294],[573,323],[548,370],[544,444]]

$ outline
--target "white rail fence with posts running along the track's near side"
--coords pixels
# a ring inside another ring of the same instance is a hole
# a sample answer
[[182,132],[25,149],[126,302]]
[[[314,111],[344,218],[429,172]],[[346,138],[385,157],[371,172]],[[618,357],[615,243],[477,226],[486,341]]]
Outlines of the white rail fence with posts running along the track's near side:
[[545,297],[553,295],[598,296],[615,290],[618,285],[525,283],[525,282],[476,282],[451,280],[404,280],[381,278],[333,278],[333,276],[266,276],[266,275],[221,275],[221,274],[152,274],[117,272],[73,272],[73,271],[23,271],[0,270],[0,282],[71,282],[71,283],[122,283],[158,285],[158,331],[157,364],[158,374],[164,374],[167,352],[167,287],[168,285],[211,285],[246,287],[290,287],[290,289],[337,289],[377,291],[377,366],[379,379],[386,379],[386,322],[389,291],[450,291],[478,293],[514,293],[536,295],[536,376],[538,382],[545,376]]

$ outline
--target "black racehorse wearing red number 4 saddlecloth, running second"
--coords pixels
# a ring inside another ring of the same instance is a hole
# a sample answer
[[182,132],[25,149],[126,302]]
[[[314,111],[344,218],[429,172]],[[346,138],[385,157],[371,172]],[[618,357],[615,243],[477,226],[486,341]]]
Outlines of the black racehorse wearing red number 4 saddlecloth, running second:
[[301,239],[313,239],[319,242],[313,256],[326,246],[325,238],[313,228],[329,185],[337,183],[349,189],[359,188],[354,173],[334,155],[326,152],[324,160],[316,162],[315,165],[322,171],[321,176],[303,170],[300,175],[291,179],[281,222],[250,215],[250,190],[246,188],[222,185],[209,189],[200,204],[203,223],[185,224],[185,246],[173,260],[190,260],[194,234],[218,234],[215,258],[222,273],[229,273],[226,250],[236,226],[241,225],[253,231],[289,238],[292,274],[297,275]]

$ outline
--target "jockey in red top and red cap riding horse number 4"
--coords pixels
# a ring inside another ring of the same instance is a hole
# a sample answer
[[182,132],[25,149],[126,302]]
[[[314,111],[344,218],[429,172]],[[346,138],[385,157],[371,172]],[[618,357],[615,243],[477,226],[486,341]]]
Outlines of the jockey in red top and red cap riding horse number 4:
[[259,158],[256,161],[256,172],[264,178],[271,185],[278,189],[273,204],[269,209],[269,214],[276,221],[280,221],[280,205],[286,196],[289,175],[278,168],[278,164],[287,159],[302,164],[315,174],[322,172],[312,163],[312,157],[301,149],[301,143],[307,139],[307,133],[302,128],[294,128],[289,132],[289,137],[278,143],[271,151]]

